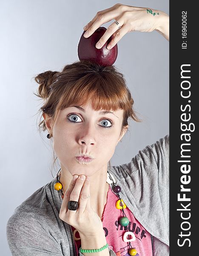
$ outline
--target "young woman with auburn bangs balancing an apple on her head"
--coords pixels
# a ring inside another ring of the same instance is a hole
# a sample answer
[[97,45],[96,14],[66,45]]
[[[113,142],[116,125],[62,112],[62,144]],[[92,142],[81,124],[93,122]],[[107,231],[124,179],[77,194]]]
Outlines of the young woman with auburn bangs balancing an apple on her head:
[[[110,20],[97,48],[114,35],[112,48],[134,30],[169,38],[167,14],[121,4],[98,12],[88,36]],[[44,100],[39,126],[48,130],[61,168],[9,218],[12,255],[169,255],[168,135],[130,163],[110,166],[128,118],[139,122],[122,73],[77,61],[35,80]]]

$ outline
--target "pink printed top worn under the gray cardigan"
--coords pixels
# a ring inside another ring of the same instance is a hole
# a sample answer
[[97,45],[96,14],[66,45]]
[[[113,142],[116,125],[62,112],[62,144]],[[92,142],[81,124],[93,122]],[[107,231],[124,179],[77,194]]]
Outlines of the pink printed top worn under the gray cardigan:
[[[107,202],[102,214],[102,224],[105,231],[106,241],[109,245],[108,247],[113,250],[117,256],[129,256],[129,246],[127,242],[123,241],[122,237],[125,232],[132,232],[134,233],[136,240],[131,241],[131,247],[136,249],[136,256],[152,256],[150,233],[148,233],[139,221],[136,220],[127,205],[126,208],[124,208],[124,212],[126,217],[129,219],[129,224],[126,227],[119,224],[119,219],[123,217],[123,213],[121,209],[117,209],[115,207],[118,200],[119,198],[112,192],[109,185]],[[74,235],[76,253],[77,256],[79,256],[79,250],[81,247],[80,235],[74,227],[71,226],[71,228]],[[132,237],[129,236],[127,238],[131,239]]]

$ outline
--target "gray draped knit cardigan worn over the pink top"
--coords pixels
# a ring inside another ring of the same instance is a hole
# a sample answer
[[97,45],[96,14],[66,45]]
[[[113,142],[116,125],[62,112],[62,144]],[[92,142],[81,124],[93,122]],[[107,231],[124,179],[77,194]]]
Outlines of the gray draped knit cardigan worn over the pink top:
[[[169,135],[139,151],[130,163],[111,166],[108,171],[121,187],[122,200],[151,233],[153,256],[168,256]],[[62,198],[54,190],[54,183],[56,177],[35,191],[9,218],[7,240],[12,255],[76,255],[71,226],[59,218]],[[108,249],[110,256],[116,256]]]

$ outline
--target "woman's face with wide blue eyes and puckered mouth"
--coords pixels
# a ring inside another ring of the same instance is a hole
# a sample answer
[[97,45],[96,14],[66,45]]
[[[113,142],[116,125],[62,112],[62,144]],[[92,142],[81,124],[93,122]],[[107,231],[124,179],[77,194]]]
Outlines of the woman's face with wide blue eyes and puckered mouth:
[[[126,129],[120,137],[123,110],[111,111],[114,114],[100,112],[94,111],[87,103],[84,108],[65,108],[57,116],[51,131],[53,147],[60,162],[71,175],[91,176],[107,166],[117,143],[125,134]],[[76,158],[80,154],[94,159],[89,163],[82,162]]]

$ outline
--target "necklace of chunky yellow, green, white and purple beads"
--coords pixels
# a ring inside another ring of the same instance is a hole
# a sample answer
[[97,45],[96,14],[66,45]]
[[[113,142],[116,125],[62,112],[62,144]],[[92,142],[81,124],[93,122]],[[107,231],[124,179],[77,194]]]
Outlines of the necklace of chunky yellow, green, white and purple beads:
[[[61,168],[60,168],[60,170],[61,170]],[[60,170],[59,170],[59,172],[60,172]],[[63,199],[64,198],[63,189],[62,189],[63,186],[62,186],[62,183],[60,183],[60,180],[59,180],[59,177],[61,175],[58,176],[58,173],[57,173],[57,183],[54,184],[54,189],[61,192],[61,197]],[[123,214],[123,217],[121,217],[119,219],[119,224],[123,227],[126,227],[129,224],[129,219],[126,217],[125,212],[124,212],[124,209],[126,208],[126,205],[125,205],[124,201],[119,196],[119,192],[121,191],[121,187],[120,186],[115,186],[114,180],[115,180],[115,178],[113,177],[113,175],[111,175],[107,171],[107,180],[106,180],[106,182],[109,183],[109,184],[113,183],[113,191],[117,194],[117,197],[119,198],[119,200],[117,200],[117,202],[115,204],[115,207],[117,209],[121,209],[122,214]],[[132,238],[131,238],[131,236],[132,236]],[[131,255],[131,256],[139,256],[136,249],[131,246],[131,241],[136,240],[136,237],[135,237],[134,233],[126,231],[123,234],[122,239],[123,239],[124,242],[127,242],[128,246],[129,246],[128,247],[128,254]]]

